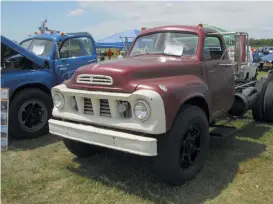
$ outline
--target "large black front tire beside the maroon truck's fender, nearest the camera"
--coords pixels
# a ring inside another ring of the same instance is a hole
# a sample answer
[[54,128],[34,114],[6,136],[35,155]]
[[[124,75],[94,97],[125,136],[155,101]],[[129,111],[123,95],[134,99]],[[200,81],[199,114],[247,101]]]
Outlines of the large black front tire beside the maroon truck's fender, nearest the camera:
[[168,184],[183,184],[202,169],[208,147],[209,125],[204,111],[185,105],[170,132],[158,140],[155,171]]

